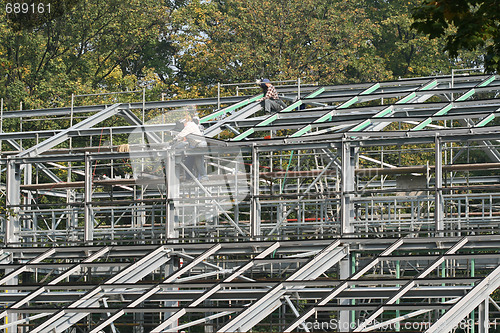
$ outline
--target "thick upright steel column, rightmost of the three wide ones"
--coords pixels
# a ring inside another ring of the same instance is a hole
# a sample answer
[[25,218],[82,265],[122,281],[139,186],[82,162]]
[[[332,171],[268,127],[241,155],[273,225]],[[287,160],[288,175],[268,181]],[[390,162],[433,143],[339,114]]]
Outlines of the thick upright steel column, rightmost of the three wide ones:
[[355,158],[354,149],[351,143],[345,139],[342,140],[342,194],[341,194],[341,216],[340,226],[341,234],[349,234],[354,232],[351,224],[354,221],[354,174],[355,174]]

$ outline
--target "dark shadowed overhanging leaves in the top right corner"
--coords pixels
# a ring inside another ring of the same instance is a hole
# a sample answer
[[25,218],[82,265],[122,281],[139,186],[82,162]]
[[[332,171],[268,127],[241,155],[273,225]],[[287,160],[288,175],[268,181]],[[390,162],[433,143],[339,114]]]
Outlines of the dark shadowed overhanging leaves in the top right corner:
[[424,0],[413,12],[413,27],[431,38],[446,37],[451,57],[480,50],[490,72],[500,70],[499,0]]

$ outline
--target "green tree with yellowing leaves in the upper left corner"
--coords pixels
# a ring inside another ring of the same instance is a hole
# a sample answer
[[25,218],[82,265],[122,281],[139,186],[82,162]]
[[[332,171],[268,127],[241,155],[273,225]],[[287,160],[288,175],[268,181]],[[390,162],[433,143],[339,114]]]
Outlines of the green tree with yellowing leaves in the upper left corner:
[[[59,106],[71,93],[135,89],[151,66],[169,77],[170,16],[184,0],[54,1],[53,15],[0,21],[0,95],[16,108]],[[58,9],[59,10],[56,10]]]

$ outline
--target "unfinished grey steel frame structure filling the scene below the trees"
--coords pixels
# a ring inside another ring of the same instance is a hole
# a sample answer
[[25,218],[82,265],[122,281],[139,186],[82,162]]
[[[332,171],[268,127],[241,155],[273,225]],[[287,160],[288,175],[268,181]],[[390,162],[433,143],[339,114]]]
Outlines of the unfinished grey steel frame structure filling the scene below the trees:
[[[278,91],[289,105],[275,114],[258,94],[2,110],[20,130],[0,133],[0,327],[496,323],[500,77]],[[166,111],[194,105],[222,107],[203,111],[208,146],[186,153],[171,144]],[[145,123],[153,114],[164,121]],[[67,127],[26,130],[42,121]],[[186,154],[204,156],[207,180]]]

